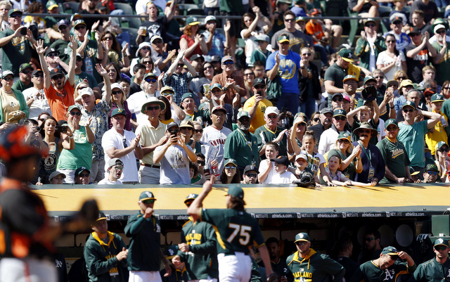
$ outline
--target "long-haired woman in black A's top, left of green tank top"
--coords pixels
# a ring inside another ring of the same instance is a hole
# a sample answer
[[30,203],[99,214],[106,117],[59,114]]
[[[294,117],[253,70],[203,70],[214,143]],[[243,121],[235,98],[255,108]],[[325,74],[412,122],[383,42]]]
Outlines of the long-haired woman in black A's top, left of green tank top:
[[[58,127],[57,127],[58,126]],[[60,130],[60,125],[54,117],[47,117],[42,122],[40,134],[44,136],[44,143],[49,146],[49,154],[46,158],[41,159],[39,169],[39,177],[42,184],[49,184],[49,176],[52,172],[56,172],[56,165],[63,149],[73,150],[75,148],[75,140],[70,127],[63,127],[67,132]]]

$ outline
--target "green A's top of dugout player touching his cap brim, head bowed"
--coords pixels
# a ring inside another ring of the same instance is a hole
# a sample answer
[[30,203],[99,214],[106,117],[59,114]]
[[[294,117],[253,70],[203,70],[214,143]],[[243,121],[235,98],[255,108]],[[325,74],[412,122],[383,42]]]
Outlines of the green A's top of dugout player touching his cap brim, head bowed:
[[380,269],[373,260],[364,262],[356,269],[351,282],[396,282],[400,274],[413,273],[416,270],[416,264],[413,267],[408,266],[408,262],[396,261],[387,269]]

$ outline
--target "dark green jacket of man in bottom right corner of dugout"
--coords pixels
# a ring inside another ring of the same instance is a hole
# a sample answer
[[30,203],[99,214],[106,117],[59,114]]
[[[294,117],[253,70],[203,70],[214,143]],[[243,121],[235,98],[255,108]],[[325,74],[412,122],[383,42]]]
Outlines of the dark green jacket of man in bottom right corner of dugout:
[[441,264],[435,257],[419,264],[414,271],[414,279],[417,282],[450,282],[450,260],[446,259]]

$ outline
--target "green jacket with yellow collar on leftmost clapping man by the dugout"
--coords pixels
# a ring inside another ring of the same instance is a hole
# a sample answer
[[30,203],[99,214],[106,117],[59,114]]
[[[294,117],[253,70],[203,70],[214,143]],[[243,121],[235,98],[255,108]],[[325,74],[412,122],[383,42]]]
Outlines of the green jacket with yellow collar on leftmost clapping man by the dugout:
[[[126,259],[119,262],[115,257],[122,248],[127,248],[122,237],[108,231],[108,244],[92,232],[84,245],[84,260],[91,282],[126,282],[128,271]],[[115,280],[110,278],[115,277]]]

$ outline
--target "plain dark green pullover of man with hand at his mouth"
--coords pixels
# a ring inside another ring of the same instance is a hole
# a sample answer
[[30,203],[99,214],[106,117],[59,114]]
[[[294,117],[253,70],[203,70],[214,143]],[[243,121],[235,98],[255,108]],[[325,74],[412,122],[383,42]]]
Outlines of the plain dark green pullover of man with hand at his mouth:
[[154,215],[143,218],[138,212],[128,219],[125,235],[130,238],[128,248],[129,271],[160,271],[160,220]]

